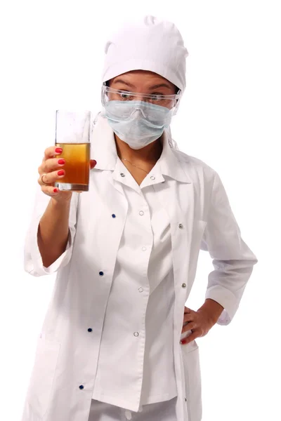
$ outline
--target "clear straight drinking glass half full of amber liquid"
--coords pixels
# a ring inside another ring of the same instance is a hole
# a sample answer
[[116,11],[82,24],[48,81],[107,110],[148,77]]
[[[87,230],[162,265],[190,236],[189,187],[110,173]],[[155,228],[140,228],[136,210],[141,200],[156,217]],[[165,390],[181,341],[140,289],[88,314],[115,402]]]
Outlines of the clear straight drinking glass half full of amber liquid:
[[91,112],[55,112],[55,146],[63,149],[65,176],[55,182],[60,190],[89,191]]

